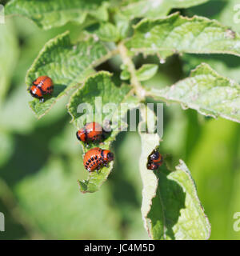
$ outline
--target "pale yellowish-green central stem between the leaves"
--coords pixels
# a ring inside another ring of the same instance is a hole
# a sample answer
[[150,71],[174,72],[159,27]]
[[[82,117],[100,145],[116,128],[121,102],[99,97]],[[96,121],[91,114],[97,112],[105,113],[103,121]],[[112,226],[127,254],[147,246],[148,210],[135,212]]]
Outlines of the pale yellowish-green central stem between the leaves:
[[134,62],[128,56],[126,46],[124,46],[122,42],[118,44],[118,50],[122,58],[122,63],[127,66],[127,69],[130,72],[130,83],[134,87],[135,93],[138,95],[138,98],[143,101],[146,96],[146,91],[142,88],[141,82],[138,81]]

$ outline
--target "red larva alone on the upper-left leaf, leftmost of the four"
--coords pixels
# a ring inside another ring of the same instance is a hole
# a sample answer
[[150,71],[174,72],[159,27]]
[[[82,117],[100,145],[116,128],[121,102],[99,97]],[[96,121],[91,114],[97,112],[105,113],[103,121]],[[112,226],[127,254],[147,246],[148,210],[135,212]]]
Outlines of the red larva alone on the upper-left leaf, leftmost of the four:
[[52,94],[54,90],[53,81],[46,75],[34,80],[33,85],[28,89],[34,98],[38,98],[40,102],[44,102],[43,95]]

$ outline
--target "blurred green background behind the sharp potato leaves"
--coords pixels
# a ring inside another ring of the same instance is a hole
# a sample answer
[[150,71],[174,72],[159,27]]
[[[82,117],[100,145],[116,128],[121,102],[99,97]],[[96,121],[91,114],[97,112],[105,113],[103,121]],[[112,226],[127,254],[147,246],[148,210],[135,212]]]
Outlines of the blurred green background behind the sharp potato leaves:
[[[184,14],[228,20],[226,2],[214,8],[208,3]],[[6,218],[0,239],[148,239],[140,211],[138,134],[118,135],[110,178],[97,193],[81,194],[77,180],[86,177],[86,170],[66,112],[67,98],[39,121],[28,106],[26,71],[42,46],[65,30],[78,38],[79,28],[74,25],[44,31],[20,17],[0,24],[0,212]],[[239,58],[233,56],[189,54],[169,58],[165,64],[140,56],[136,65],[158,63],[158,74],[145,83],[162,87],[186,77],[202,61],[240,82]],[[119,74],[116,63],[118,59],[98,70]],[[165,105],[164,111],[162,153],[172,154],[175,164],[182,158],[190,168],[210,219],[210,238],[239,239],[233,215],[240,212],[240,126],[204,118],[177,104]]]

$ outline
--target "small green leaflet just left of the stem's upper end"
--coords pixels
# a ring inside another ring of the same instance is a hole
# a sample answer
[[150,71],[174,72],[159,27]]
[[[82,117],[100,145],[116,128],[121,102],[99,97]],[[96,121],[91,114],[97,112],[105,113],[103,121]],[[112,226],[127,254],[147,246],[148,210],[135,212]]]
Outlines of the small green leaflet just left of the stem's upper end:
[[119,39],[118,28],[110,22],[95,23],[86,28],[90,34],[96,34],[98,38],[106,42],[117,42]]

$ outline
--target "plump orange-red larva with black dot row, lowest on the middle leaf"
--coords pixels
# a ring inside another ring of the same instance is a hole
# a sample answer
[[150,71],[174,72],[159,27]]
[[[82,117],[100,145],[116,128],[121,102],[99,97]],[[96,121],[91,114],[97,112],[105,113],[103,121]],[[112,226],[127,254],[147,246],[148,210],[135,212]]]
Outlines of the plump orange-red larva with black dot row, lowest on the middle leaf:
[[102,150],[94,147],[88,150],[83,158],[83,165],[89,172],[99,170],[102,166],[114,160],[114,154],[110,150]]

